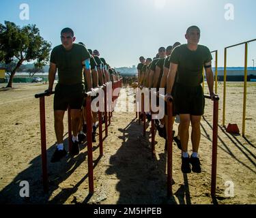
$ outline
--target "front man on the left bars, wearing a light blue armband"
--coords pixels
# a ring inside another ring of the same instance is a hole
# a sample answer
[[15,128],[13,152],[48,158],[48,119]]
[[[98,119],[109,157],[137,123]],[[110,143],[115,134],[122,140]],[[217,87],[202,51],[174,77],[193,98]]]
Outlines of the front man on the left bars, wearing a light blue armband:
[[79,123],[81,118],[81,108],[84,98],[83,70],[87,87],[91,86],[91,69],[89,65],[90,55],[85,46],[74,44],[76,37],[74,31],[65,28],[61,31],[61,45],[53,48],[50,59],[49,84],[46,92],[51,93],[53,82],[58,69],[59,81],[55,87],[54,96],[54,118],[55,134],[57,138],[57,148],[51,162],[59,161],[66,156],[67,152],[63,148],[63,116],[68,106],[71,109],[72,122],[72,155],[79,154]]

